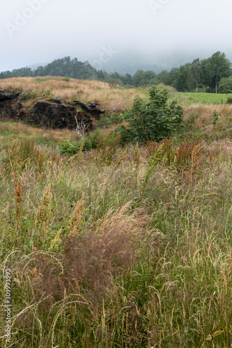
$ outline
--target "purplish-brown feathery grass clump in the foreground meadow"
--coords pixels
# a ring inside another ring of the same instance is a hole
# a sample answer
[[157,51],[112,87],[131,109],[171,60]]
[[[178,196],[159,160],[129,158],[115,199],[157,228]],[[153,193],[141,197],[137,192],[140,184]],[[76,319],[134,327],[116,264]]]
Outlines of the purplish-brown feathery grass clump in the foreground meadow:
[[130,203],[116,212],[109,211],[85,235],[73,235],[65,241],[67,278],[88,290],[91,302],[99,303],[114,276],[138,260],[144,226],[150,218],[139,209],[130,214],[129,209]]

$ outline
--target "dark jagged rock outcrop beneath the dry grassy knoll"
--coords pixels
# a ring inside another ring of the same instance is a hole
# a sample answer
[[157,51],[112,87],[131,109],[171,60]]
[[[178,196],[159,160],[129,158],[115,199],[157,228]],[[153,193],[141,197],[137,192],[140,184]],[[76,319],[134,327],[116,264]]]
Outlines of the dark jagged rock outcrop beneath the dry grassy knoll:
[[[87,105],[79,100],[69,102],[60,98],[40,100],[31,109],[26,109],[19,96],[20,92],[0,90],[1,117],[23,120],[41,128],[76,129],[77,125],[82,125],[85,131],[90,131],[95,128],[102,113],[107,112],[98,102]],[[77,108],[82,111],[77,111]]]

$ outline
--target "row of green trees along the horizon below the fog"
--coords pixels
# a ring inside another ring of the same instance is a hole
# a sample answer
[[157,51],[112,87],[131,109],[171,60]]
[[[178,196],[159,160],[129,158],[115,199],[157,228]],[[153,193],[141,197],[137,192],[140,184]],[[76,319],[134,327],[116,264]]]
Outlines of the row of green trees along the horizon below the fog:
[[180,92],[203,91],[208,93],[232,93],[231,62],[223,52],[216,52],[210,58],[194,59],[192,63],[173,68],[170,72],[163,70],[160,74],[153,71],[137,70],[130,74],[107,73],[96,70],[88,61],[80,62],[77,58],[56,59],[36,70],[29,67],[0,73],[0,79],[8,77],[61,76],[73,79],[96,79],[121,86],[153,86],[163,83],[173,86]]

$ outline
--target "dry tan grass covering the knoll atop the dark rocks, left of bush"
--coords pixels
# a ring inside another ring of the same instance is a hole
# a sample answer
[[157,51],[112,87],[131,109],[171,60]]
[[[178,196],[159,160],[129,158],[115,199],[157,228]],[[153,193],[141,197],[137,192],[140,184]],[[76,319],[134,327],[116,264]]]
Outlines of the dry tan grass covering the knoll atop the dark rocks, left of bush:
[[[26,95],[25,105],[33,106],[35,100],[42,97],[61,97],[65,100],[82,100],[89,103],[96,100],[106,109],[113,109],[119,103],[117,110],[133,104],[137,95],[148,95],[146,88],[123,88],[111,86],[106,82],[69,79],[61,77],[12,77],[0,80],[0,88],[23,90]],[[24,97],[24,96],[22,96]],[[30,99],[31,97],[31,99]]]

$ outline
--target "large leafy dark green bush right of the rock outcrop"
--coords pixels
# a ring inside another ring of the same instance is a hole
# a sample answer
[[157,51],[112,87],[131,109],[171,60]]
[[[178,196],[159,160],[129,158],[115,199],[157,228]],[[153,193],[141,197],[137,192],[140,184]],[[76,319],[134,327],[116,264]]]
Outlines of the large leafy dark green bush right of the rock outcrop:
[[121,126],[121,142],[144,143],[147,140],[161,141],[173,135],[183,122],[183,109],[176,101],[167,104],[168,91],[150,88],[149,102],[144,104],[141,97],[134,100],[132,109],[125,113],[128,126]]

